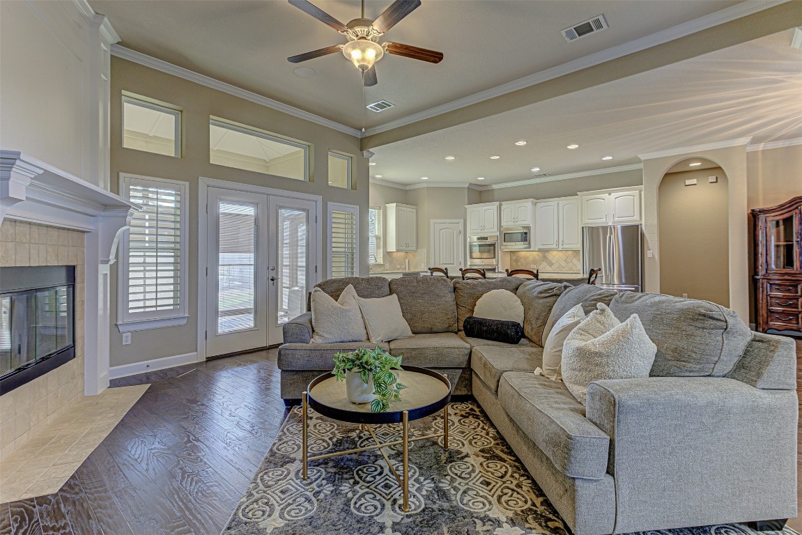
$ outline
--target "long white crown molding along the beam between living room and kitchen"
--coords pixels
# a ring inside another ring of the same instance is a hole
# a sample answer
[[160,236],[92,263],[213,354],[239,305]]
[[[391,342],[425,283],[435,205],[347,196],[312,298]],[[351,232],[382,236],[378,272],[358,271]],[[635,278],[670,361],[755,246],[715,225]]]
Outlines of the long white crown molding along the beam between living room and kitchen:
[[512,91],[518,91],[525,87],[531,87],[538,83],[546,82],[550,79],[559,78],[560,76],[569,75],[572,72],[581,71],[594,65],[606,63],[612,59],[618,59],[626,55],[633,54],[634,52],[643,51],[647,48],[657,47],[664,43],[669,43],[676,39],[683,38],[690,34],[695,34],[702,30],[707,30],[714,26],[719,26],[725,22],[731,22],[738,18],[747,17],[748,15],[755,14],[759,11],[768,10],[774,6],[779,6],[792,0],[747,0],[735,6],[727,7],[723,10],[716,11],[705,15],[704,17],[696,18],[695,20],[683,22],[677,26],[666,28],[665,30],[658,31],[657,33],[647,35],[641,39],[635,39],[629,43],[622,43],[615,47],[608,48],[603,51],[598,51],[595,54],[586,55],[583,58],[574,59],[568,63],[564,63],[557,67],[546,69],[528,75],[523,78],[512,80],[512,82],[503,83],[500,86],[492,87],[486,91],[480,91],[473,95],[468,95],[462,99],[456,99],[452,102],[442,104],[440,106],[431,107],[427,110],[419,111],[410,116],[401,117],[396,120],[389,121],[386,124],[381,124],[374,128],[368,128],[365,136],[373,136],[382,132],[387,132],[394,128],[406,126],[420,120],[430,119],[431,117],[443,115],[449,111],[455,111],[462,107],[468,107],[472,104],[480,103],[484,100],[493,99],[501,95],[506,95]]

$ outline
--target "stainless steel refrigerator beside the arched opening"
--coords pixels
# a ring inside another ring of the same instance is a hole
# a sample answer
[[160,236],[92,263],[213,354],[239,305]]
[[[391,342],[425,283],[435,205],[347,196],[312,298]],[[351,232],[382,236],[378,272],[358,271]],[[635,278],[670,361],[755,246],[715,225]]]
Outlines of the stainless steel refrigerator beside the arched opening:
[[602,268],[597,286],[641,291],[641,225],[584,227],[582,237],[585,273]]

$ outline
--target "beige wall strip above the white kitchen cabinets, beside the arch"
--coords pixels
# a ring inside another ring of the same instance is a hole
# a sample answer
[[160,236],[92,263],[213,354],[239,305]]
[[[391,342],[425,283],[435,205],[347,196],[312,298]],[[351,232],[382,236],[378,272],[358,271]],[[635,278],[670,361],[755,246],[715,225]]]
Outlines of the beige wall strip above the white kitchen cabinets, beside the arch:
[[609,173],[605,175],[581,176],[565,180],[553,180],[538,184],[526,184],[512,188],[485,189],[480,193],[480,202],[517,201],[519,199],[556,199],[570,197],[578,192],[597,189],[626,188],[643,184],[640,169]]

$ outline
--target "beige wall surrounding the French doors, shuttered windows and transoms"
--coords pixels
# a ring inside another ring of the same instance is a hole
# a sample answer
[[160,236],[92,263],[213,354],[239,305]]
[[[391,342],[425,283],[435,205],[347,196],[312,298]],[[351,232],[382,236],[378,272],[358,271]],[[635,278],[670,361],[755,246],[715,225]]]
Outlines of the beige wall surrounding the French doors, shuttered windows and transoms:
[[[161,156],[122,148],[121,91],[130,91],[157,99],[183,109],[184,155],[181,158]],[[312,145],[310,182],[269,176],[258,172],[209,164],[209,116],[221,117],[247,124],[268,132]],[[354,156],[354,189],[334,188],[328,185],[328,152],[342,152]],[[359,242],[367,243],[368,173],[367,160],[361,156],[359,140],[342,132],[322,127],[306,120],[289,116],[281,111],[260,106],[233,95],[201,86],[124,59],[112,58],[111,63],[111,185],[117,192],[119,172],[156,176],[189,183],[188,202],[188,313],[185,326],[168,327],[132,333],[132,344],[123,346],[122,335],[112,325],[111,366],[184,355],[197,350],[197,257],[198,257],[198,177],[229,180],[243,184],[256,184],[292,192],[310,193],[323,198],[322,213],[326,217],[326,203],[338,202],[358,205],[360,215]],[[322,243],[327,243],[325,221]],[[318,258],[318,275],[325,277],[328,252]],[[360,273],[367,274],[367,254],[360,260]],[[112,268],[112,287],[116,287],[116,266]],[[116,321],[115,294],[111,298],[111,321]]]

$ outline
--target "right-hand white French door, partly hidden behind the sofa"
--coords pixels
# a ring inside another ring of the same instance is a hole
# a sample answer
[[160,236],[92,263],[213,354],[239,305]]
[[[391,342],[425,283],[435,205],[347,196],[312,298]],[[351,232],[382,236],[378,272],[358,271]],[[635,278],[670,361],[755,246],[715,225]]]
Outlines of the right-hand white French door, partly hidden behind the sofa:
[[306,312],[314,286],[316,205],[290,197],[269,198],[268,341],[282,343],[282,326]]

